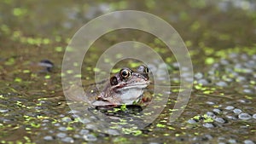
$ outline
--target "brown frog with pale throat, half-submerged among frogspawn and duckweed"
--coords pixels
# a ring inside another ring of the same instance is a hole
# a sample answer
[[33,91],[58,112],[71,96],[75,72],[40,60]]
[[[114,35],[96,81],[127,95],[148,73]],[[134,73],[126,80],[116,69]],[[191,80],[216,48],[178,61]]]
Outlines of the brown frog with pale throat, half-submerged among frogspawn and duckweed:
[[119,105],[131,105],[139,101],[143,95],[143,89],[150,84],[148,80],[148,68],[139,66],[137,72],[130,68],[123,68],[119,73],[109,79],[102,93],[92,102],[94,107],[117,107]]

